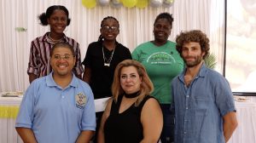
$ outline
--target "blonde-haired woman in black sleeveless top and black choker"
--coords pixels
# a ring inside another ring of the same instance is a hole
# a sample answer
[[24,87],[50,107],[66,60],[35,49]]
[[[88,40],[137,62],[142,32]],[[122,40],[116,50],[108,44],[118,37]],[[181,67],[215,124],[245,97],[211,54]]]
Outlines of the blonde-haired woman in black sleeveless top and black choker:
[[160,105],[145,68],[124,60],[114,72],[113,98],[102,116],[98,143],[156,143],[163,127]]

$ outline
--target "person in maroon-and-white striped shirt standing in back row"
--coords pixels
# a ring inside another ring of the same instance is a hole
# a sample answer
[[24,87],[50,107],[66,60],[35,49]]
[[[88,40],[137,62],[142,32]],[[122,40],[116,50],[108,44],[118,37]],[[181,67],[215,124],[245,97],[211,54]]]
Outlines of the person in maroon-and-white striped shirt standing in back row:
[[52,71],[49,65],[49,52],[55,43],[63,42],[73,46],[76,59],[73,72],[77,77],[81,78],[84,69],[81,65],[79,43],[73,38],[66,37],[63,32],[66,29],[66,26],[69,26],[70,24],[68,10],[64,6],[53,5],[46,10],[46,13],[40,14],[38,19],[41,21],[42,26],[49,25],[50,31],[46,32],[44,36],[36,37],[31,43],[27,68],[29,82],[32,83],[34,79],[44,77]]

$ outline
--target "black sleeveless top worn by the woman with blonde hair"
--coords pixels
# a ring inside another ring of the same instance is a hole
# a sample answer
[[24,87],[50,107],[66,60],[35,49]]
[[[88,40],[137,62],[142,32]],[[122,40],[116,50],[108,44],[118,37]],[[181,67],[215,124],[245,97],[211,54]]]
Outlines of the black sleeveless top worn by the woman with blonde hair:
[[147,95],[139,106],[133,104],[125,112],[119,113],[122,97],[119,96],[117,103],[112,102],[109,117],[104,125],[105,142],[139,143],[143,140],[141,112],[145,102],[154,97]]

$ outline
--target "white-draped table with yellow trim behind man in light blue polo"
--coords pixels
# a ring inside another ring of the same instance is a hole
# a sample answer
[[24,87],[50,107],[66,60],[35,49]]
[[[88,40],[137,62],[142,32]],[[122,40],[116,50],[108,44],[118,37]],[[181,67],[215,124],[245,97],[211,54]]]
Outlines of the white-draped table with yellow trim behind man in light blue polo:
[[[0,97],[0,143],[22,143],[15,130],[15,118],[19,112],[20,97]],[[105,110],[108,98],[94,100],[96,112]]]

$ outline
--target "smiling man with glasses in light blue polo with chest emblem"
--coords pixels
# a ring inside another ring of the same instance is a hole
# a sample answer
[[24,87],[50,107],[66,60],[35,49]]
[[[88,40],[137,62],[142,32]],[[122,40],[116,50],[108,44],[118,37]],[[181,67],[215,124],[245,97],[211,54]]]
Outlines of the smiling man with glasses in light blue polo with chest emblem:
[[20,105],[16,130],[24,142],[89,143],[96,129],[94,99],[87,83],[75,77],[73,47],[57,43],[53,69],[32,82]]

